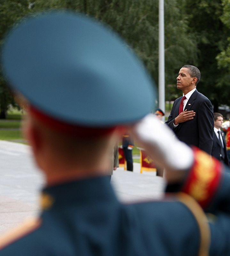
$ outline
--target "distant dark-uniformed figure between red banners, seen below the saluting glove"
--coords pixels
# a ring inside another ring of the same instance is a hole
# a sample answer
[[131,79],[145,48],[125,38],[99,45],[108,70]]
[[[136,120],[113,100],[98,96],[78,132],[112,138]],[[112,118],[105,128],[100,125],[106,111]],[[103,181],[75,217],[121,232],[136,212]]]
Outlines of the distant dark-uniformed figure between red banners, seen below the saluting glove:
[[134,143],[129,134],[123,134],[122,148],[124,150],[124,157],[127,163],[127,171],[133,171],[132,149]]

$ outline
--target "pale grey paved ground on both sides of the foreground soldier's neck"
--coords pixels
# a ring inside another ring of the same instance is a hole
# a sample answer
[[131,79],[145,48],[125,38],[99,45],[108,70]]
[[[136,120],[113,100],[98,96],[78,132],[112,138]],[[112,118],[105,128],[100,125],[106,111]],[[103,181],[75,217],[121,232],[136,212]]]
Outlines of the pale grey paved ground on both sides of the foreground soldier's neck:
[[[0,235],[39,211],[39,191],[44,184],[33,163],[30,147],[0,140]],[[164,180],[155,172],[140,174],[118,168],[111,179],[117,196],[124,202],[159,199]]]

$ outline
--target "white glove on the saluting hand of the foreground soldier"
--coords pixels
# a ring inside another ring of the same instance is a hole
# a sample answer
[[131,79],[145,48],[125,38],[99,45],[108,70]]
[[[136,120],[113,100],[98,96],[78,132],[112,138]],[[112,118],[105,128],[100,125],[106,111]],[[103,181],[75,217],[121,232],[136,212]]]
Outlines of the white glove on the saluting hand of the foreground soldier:
[[149,114],[133,126],[133,136],[159,165],[171,170],[186,170],[193,164],[193,151],[174,138],[175,134],[154,115]]

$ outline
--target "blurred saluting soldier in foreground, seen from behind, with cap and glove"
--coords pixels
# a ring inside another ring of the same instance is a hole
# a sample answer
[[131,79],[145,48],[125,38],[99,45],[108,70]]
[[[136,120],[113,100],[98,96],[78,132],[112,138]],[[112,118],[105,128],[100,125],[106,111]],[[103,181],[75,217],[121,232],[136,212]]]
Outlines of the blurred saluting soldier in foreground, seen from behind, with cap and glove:
[[[230,177],[148,115],[152,84],[117,36],[82,15],[46,13],[9,34],[2,63],[29,102],[24,133],[46,187],[40,216],[1,237],[0,256],[229,255]],[[165,167],[170,197],[117,200],[107,173],[127,130]]]

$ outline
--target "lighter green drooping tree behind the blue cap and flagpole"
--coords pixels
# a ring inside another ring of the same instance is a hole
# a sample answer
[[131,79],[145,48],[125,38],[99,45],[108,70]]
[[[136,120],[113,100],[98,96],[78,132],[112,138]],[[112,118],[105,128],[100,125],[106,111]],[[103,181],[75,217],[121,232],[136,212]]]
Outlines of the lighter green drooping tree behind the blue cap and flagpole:
[[[166,84],[176,84],[178,70],[185,63],[197,62],[197,42],[188,32],[186,0],[165,0],[165,78]],[[2,0],[0,4],[0,35],[27,14],[50,9],[68,9],[86,13],[106,23],[122,36],[141,58],[152,78],[158,83],[158,0]],[[10,10],[10,11],[9,11]],[[0,42],[1,43],[1,42]],[[0,82],[0,106],[7,109],[10,98]],[[167,93],[168,92],[168,93]],[[166,99],[173,100],[178,90],[171,86]]]

